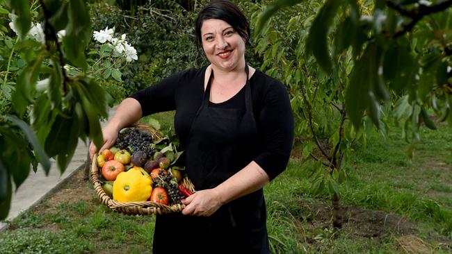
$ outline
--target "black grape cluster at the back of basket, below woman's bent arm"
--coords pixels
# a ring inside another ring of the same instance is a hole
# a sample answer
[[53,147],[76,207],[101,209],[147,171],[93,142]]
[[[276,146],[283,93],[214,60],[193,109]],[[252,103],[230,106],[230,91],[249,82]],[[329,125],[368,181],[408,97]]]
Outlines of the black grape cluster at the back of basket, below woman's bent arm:
[[147,158],[152,158],[152,155],[155,153],[151,135],[138,130],[138,128],[127,128],[120,132],[115,146],[118,149],[129,151],[130,154],[136,151],[144,151],[147,154]]

